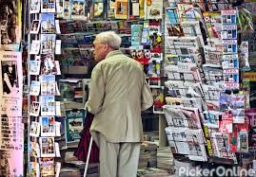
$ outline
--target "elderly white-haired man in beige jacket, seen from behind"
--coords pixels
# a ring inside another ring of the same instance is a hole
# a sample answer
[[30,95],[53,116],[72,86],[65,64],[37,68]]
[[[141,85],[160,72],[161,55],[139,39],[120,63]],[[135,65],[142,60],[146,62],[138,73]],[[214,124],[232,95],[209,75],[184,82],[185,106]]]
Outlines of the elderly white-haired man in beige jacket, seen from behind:
[[86,109],[95,115],[90,133],[100,149],[101,177],[136,176],[141,112],[153,102],[143,66],[119,50],[121,41],[113,31],[102,32],[92,47],[97,64]]

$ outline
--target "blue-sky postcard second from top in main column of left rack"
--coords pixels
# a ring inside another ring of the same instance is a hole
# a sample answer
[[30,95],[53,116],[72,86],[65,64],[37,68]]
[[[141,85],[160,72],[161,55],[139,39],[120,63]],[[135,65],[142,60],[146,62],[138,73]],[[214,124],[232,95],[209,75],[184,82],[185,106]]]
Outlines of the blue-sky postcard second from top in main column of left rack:
[[55,33],[54,13],[41,13],[41,33]]

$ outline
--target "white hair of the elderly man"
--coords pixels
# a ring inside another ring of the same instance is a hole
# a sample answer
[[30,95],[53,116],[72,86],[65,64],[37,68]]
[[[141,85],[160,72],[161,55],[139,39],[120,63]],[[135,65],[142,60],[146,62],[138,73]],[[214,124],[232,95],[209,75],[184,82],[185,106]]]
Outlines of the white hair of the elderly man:
[[114,31],[105,31],[96,35],[96,40],[101,43],[106,43],[111,48],[118,50],[122,43],[121,37]]

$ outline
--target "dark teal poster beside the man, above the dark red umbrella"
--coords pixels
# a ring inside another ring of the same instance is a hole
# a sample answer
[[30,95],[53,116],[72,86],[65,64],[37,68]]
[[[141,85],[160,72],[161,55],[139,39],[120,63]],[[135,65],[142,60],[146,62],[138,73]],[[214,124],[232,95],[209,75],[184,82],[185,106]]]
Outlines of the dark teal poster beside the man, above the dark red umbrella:
[[66,111],[67,143],[80,140],[79,133],[84,129],[85,117],[84,109]]

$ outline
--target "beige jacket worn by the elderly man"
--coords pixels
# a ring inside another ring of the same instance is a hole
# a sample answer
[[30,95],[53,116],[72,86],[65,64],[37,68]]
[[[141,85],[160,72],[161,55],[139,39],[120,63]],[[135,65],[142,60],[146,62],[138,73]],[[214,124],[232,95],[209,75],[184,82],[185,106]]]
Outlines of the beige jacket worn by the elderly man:
[[99,132],[112,143],[143,141],[141,112],[153,98],[143,66],[121,51],[108,53],[91,73],[86,109],[95,115],[90,133]]

